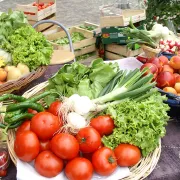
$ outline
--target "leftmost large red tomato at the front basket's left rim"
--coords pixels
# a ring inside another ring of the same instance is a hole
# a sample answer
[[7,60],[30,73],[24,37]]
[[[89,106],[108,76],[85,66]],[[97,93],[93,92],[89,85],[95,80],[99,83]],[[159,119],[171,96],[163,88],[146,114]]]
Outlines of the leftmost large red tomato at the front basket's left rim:
[[19,159],[30,162],[39,154],[40,144],[36,134],[32,131],[24,131],[16,136],[14,151]]

